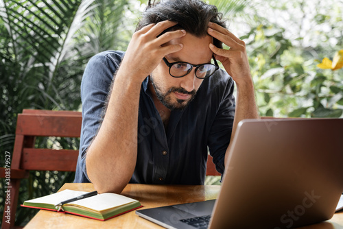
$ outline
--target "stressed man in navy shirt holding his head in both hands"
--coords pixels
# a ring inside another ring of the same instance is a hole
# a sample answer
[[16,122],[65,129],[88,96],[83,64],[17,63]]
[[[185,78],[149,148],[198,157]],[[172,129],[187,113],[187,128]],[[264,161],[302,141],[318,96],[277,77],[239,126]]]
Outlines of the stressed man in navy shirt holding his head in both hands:
[[237,123],[258,115],[245,44],[220,15],[199,0],[161,1],[145,10],[126,53],[91,58],[75,182],[99,193],[128,182],[204,184],[208,147],[224,173]]

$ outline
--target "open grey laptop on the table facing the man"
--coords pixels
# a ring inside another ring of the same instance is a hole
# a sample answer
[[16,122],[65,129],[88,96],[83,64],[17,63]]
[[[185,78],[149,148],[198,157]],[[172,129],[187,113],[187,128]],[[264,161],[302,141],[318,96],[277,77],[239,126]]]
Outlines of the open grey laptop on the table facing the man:
[[343,119],[246,119],[217,200],[137,210],[165,228],[296,228],[331,219],[343,191]]

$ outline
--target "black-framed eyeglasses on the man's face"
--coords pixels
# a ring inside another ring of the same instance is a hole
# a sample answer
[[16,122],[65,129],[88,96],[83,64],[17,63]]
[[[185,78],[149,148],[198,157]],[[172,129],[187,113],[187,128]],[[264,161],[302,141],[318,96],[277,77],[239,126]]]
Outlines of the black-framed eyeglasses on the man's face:
[[193,65],[183,61],[169,63],[166,58],[163,58],[163,61],[165,62],[165,64],[167,64],[167,67],[169,67],[169,74],[172,77],[184,77],[192,71],[193,67],[196,67],[196,77],[198,79],[205,79],[213,75],[215,71],[219,69],[217,60],[215,60],[214,55],[212,55],[212,58],[215,64]]

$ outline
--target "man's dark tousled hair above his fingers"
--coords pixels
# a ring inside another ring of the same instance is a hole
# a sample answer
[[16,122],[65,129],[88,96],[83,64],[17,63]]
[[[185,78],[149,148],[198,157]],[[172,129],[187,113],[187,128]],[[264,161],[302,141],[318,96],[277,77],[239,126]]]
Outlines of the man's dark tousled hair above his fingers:
[[[166,29],[161,34],[185,29],[194,36],[206,36],[210,21],[226,27],[225,21],[222,20],[222,13],[218,12],[215,5],[208,5],[200,0],[161,0],[152,4],[149,0],[149,5],[143,12],[136,31],[146,25],[167,20],[175,21],[178,25]],[[216,38],[213,38],[213,45],[222,48],[222,42]]]

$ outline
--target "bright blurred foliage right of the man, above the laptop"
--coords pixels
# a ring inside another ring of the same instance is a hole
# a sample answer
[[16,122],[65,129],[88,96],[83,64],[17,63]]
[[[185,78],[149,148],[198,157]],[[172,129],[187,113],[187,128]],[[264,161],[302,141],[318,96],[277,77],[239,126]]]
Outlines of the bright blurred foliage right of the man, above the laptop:
[[248,28],[236,32],[246,42],[261,116],[342,117],[343,70],[316,67],[343,47],[342,9],[335,1],[256,0],[244,9],[253,20],[231,19],[232,29]]

